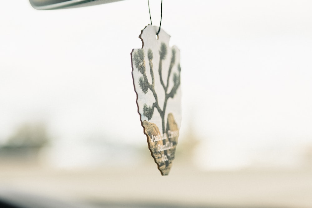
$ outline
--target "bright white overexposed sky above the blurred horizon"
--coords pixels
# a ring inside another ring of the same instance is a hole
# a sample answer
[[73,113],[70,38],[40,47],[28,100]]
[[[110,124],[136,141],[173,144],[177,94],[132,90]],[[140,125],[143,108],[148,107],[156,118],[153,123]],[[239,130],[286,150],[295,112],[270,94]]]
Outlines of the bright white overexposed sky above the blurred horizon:
[[[160,1],[150,6],[158,25]],[[181,56],[180,139],[192,123],[202,168],[291,166],[312,144],[311,11],[295,0],[163,2]],[[147,148],[130,58],[147,1],[53,11],[3,1],[0,22],[0,141],[43,121],[60,143],[108,135]]]

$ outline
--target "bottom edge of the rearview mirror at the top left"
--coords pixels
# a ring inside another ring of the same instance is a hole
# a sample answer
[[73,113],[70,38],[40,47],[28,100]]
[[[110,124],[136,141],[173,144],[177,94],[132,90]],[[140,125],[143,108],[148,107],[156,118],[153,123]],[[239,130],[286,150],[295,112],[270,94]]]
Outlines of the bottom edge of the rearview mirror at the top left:
[[35,9],[63,9],[105,4],[122,0],[29,0]]

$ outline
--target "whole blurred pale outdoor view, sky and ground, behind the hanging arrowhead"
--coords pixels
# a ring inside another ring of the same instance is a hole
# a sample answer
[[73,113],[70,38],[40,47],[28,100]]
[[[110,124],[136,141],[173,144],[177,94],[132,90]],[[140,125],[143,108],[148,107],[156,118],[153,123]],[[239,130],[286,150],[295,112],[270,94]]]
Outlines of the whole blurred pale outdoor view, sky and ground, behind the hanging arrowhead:
[[163,1],[183,93],[168,177],[131,76],[147,1],[0,4],[0,189],[100,207],[312,207],[311,1]]

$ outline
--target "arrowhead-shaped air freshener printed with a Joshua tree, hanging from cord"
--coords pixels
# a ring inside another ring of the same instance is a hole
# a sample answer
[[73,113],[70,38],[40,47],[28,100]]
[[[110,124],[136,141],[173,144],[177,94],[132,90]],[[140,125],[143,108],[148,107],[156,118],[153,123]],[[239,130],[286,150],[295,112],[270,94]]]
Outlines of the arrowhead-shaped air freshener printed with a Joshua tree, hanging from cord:
[[169,47],[170,36],[148,25],[133,49],[132,77],[137,105],[149,150],[162,175],[168,175],[174,159],[181,124],[180,51]]

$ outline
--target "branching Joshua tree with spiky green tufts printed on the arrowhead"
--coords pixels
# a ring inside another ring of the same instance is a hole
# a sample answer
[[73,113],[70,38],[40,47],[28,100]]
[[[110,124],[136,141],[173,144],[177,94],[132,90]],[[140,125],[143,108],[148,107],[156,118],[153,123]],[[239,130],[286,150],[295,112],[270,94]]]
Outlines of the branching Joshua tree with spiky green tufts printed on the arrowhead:
[[160,108],[160,105],[158,104],[158,97],[155,91],[155,78],[154,78],[154,71],[153,71],[153,52],[151,49],[148,50],[147,52],[147,57],[149,59],[149,68],[150,68],[150,74],[152,78],[152,83],[149,83],[146,75],[146,66],[145,66],[145,56],[144,56],[144,50],[143,49],[138,49],[133,53],[133,62],[135,67],[138,69],[138,71],[142,74],[142,76],[139,78],[139,86],[144,94],[148,92],[150,89],[151,92],[154,95],[155,102],[153,105],[148,106],[147,104],[143,105],[143,115],[147,117],[148,120],[150,120],[153,117],[154,114],[154,108],[157,109],[158,113],[160,114],[160,117],[162,119],[162,128],[163,128],[163,133],[165,133],[165,111],[167,107],[167,101],[169,98],[173,98],[174,95],[177,93],[178,87],[180,86],[180,72],[181,72],[181,67],[180,64],[178,64],[178,73],[173,73],[172,76],[172,81],[173,81],[173,87],[171,90],[168,90],[169,86],[169,80],[170,80],[170,75],[171,71],[173,68],[173,65],[175,63],[175,58],[176,58],[176,51],[174,49],[171,50],[172,56],[171,56],[171,61],[170,61],[170,66],[168,69],[168,76],[166,79],[166,84],[163,82],[163,76],[162,76],[162,61],[166,59],[167,56],[167,46],[165,43],[161,43],[160,50],[159,50],[159,67],[158,67],[158,74],[159,74],[159,79],[160,79],[160,84],[163,86],[163,89],[165,91],[165,100],[163,103],[163,108]]

